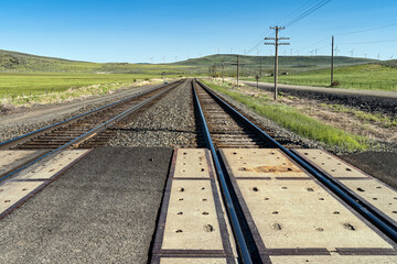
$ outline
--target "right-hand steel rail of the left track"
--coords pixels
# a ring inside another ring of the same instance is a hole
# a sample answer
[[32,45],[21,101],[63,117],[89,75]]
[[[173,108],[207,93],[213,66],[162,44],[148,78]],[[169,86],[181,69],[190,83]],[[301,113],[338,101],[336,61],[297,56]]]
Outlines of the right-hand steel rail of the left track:
[[84,141],[85,139],[89,138],[90,135],[93,135],[93,134],[95,134],[95,133],[98,133],[98,132],[107,129],[108,125],[111,125],[111,124],[118,122],[119,120],[124,119],[126,116],[128,116],[128,114],[130,114],[130,113],[139,110],[139,109],[142,108],[144,105],[147,105],[148,102],[151,102],[151,101],[154,100],[155,98],[158,98],[158,97],[162,96],[163,94],[168,92],[169,90],[171,90],[171,89],[174,88],[175,86],[178,86],[178,84],[171,85],[169,88],[167,88],[165,90],[157,94],[155,96],[153,96],[153,97],[151,97],[151,98],[149,98],[149,99],[147,99],[147,100],[144,100],[144,101],[142,101],[142,102],[140,102],[140,103],[138,103],[138,105],[129,108],[129,109],[127,109],[127,110],[124,111],[122,113],[120,113],[120,114],[118,114],[118,116],[109,119],[109,120],[106,121],[105,123],[99,124],[98,127],[89,130],[88,132],[86,132],[86,133],[77,136],[76,139],[74,139],[74,140],[69,141],[69,142],[65,143],[64,145],[62,145],[62,146],[60,146],[60,147],[57,147],[57,148],[55,148],[55,150],[53,150],[53,151],[51,151],[51,152],[49,152],[49,153],[46,153],[46,154],[44,154],[44,155],[35,158],[34,161],[25,164],[25,165],[22,166],[22,167],[20,167],[20,168],[18,168],[18,169],[15,169],[15,170],[7,174],[7,175],[3,176],[2,178],[0,178],[0,183],[1,183],[2,180],[7,179],[7,178],[10,178],[10,177],[12,177],[13,175],[20,173],[21,170],[28,168],[29,166],[32,166],[33,164],[35,164],[35,163],[44,160],[45,157],[49,157],[49,156],[51,156],[51,155],[55,155],[55,154],[57,154],[58,152],[67,148],[68,146],[72,146],[72,145],[74,145],[74,144],[79,144],[79,143],[81,143],[82,141]]

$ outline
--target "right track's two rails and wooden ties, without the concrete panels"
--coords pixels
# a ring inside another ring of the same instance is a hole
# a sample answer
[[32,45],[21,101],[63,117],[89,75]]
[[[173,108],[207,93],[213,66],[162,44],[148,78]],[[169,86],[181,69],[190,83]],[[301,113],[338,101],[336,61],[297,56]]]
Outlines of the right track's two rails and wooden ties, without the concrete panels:
[[[214,166],[223,190],[223,197],[225,199],[225,204],[227,205],[229,219],[232,219],[234,234],[237,239],[240,258],[244,263],[253,263],[258,262],[259,260],[265,260],[260,255],[260,252],[258,252],[258,249],[255,248],[255,244],[259,244],[260,242],[256,241],[256,243],[253,243],[253,241],[258,240],[258,238],[254,238],[255,234],[247,230],[249,223],[247,222],[247,219],[244,219],[244,209],[240,208],[242,205],[238,205],[238,202],[236,202],[238,199],[234,197],[236,194],[233,190],[233,183],[230,183],[229,176],[227,175],[227,164],[223,162],[225,158],[222,158],[219,148],[264,147],[280,150],[297,165],[309,172],[333,194],[354,208],[354,210],[366,220],[380,229],[390,240],[397,242],[397,227],[394,220],[368,205],[366,200],[355,195],[337,180],[330,178],[329,175],[319,169],[319,167],[304,161],[298,152],[288,150],[285,145],[266,134],[247,118],[222,100],[208,87],[200,81],[193,81],[192,86],[195,103],[198,108],[198,113],[202,120],[206,144],[213,156]],[[230,169],[228,170],[232,173]],[[236,188],[236,186],[234,187]]]

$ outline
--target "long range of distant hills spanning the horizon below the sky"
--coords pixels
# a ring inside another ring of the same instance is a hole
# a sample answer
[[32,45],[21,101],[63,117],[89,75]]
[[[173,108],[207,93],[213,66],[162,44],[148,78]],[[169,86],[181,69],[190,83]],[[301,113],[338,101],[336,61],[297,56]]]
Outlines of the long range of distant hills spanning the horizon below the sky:
[[[18,52],[0,50],[0,72],[81,72],[81,73],[122,73],[122,74],[162,74],[167,75],[208,75],[221,74],[222,64],[226,76],[236,75],[236,55],[210,55],[191,58],[172,64],[128,64],[128,63],[87,63],[63,58],[43,57]],[[240,55],[240,75],[255,76],[259,73],[261,61],[262,73],[271,73],[272,56],[243,56]],[[377,63],[374,59],[335,57],[335,66],[352,66]],[[299,73],[330,67],[328,56],[280,56],[280,72]]]

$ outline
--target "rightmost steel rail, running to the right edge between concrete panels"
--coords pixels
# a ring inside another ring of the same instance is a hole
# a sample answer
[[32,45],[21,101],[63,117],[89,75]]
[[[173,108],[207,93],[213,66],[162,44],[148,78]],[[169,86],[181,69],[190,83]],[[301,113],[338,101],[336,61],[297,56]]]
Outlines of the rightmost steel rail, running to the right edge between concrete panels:
[[197,82],[208,92],[208,95],[211,95],[214,98],[215,101],[219,102],[226,109],[232,111],[236,117],[238,117],[242,121],[244,121],[246,124],[255,129],[255,131],[258,132],[260,135],[262,135],[266,140],[268,140],[271,143],[271,145],[280,148],[283,153],[286,153],[289,157],[291,157],[300,166],[302,166],[305,170],[308,170],[311,175],[313,175],[316,179],[319,179],[323,185],[325,185],[332,193],[337,195],[341,199],[343,199],[346,204],[348,204],[354,210],[356,210],[365,219],[367,219],[375,227],[380,229],[388,238],[390,238],[394,242],[397,242],[397,227],[394,226],[390,221],[388,221],[388,219],[386,219],[377,211],[368,207],[366,202],[362,200],[361,197],[346,191],[341,184],[326,176],[324,173],[322,173],[321,170],[319,170],[318,168],[315,168],[314,166],[312,166],[311,164],[309,164],[308,162],[296,155],[290,150],[282,146],[280,143],[278,143],[276,140],[273,140],[262,130],[260,130],[256,124],[249,121],[246,117],[244,117],[242,113],[239,113],[234,108],[232,108],[228,103],[222,100],[218,96],[216,96],[207,86],[205,86],[198,80]]

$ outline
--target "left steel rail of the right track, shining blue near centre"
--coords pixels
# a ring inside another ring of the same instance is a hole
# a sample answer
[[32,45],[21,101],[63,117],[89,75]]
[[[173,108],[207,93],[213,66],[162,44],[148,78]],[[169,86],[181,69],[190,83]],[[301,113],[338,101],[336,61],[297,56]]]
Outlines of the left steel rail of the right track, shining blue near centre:
[[225,175],[224,175],[224,173],[222,170],[219,158],[217,156],[215,146],[214,146],[213,141],[211,139],[211,133],[210,133],[208,127],[207,127],[206,121],[205,121],[203,109],[202,109],[202,107],[200,105],[200,100],[198,100],[197,94],[196,94],[195,88],[194,88],[194,80],[192,81],[192,89],[193,89],[194,102],[195,102],[195,105],[197,107],[197,110],[198,110],[198,113],[200,113],[200,119],[202,121],[205,142],[206,142],[206,145],[210,148],[212,157],[213,157],[215,172],[216,172],[216,175],[217,175],[218,180],[221,183],[221,189],[222,189],[222,194],[224,196],[224,200],[226,201],[227,212],[228,212],[228,216],[229,216],[229,218],[232,220],[233,231],[234,231],[234,234],[235,234],[235,237],[237,239],[238,251],[240,253],[243,263],[250,264],[250,263],[253,263],[253,260],[251,260],[251,256],[249,254],[247,242],[246,242],[246,240],[244,238],[244,234],[243,234],[243,229],[242,229],[242,227],[239,224],[239,221],[238,221],[236,209],[235,209],[235,207],[233,205],[233,199],[232,199],[230,193],[229,193],[229,190],[227,188],[226,178],[225,178]]

